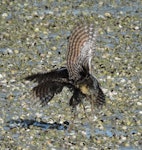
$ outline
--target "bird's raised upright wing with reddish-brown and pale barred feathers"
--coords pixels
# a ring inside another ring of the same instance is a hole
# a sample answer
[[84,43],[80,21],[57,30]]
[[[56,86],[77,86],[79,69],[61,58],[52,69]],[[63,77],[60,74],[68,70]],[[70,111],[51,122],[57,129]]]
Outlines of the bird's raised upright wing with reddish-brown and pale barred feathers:
[[78,81],[82,72],[91,71],[91,59],[95,51],[96,31],[93,24],[80,25],[74,29],[68,45],[67,69],[69,79]]

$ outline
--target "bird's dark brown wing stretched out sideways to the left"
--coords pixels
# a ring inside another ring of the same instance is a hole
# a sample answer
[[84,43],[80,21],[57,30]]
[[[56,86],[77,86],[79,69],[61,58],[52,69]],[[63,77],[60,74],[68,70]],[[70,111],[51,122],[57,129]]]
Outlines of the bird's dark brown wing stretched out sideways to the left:
[[38,83],[33,88],[33,93],[40,99],[42,105],[47,104],[55,94],[60,93],[64,86],[73,87],[69,83],[68,71],[64,67],[51,72],[33,74],[25,79]]

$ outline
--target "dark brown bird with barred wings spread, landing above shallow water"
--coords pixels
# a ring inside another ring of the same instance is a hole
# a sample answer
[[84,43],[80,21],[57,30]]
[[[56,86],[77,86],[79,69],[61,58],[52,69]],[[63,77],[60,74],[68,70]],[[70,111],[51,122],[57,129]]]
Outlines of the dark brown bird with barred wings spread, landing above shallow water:
[[96,106],[105,104],[105,95],[99,82],[91,74],[96,35],[93,24],[79,25],[69,37],[67,67],[25,78],[38,83],[33,88],[33,93],[40,99],[42,105],[47,104],[64,87],[68,87],[73,93],[69,101],[69,105],[73,108],[84,98]]

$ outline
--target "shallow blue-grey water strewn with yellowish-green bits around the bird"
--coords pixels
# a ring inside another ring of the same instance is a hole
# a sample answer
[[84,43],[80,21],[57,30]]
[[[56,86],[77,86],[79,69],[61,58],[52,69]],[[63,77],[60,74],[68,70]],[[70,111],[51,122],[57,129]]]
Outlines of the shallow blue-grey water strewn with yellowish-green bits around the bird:
[[[0,2],[1,149],[141,149],[141,1]],[[23,78],[66,65],[67,37],[77,22],[99,30],[94,75],[106,94],[102,110],[84,102],[70,130],[10,129],[10,120],[70,122],[70,92],[63,89],[48,106],[34,104],[34,86]],[[90,120],[91,121],[90,121]]]

